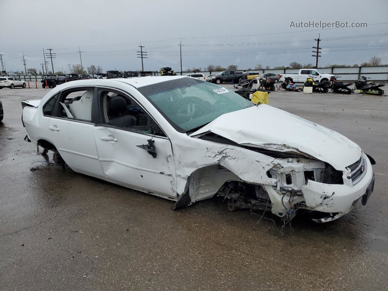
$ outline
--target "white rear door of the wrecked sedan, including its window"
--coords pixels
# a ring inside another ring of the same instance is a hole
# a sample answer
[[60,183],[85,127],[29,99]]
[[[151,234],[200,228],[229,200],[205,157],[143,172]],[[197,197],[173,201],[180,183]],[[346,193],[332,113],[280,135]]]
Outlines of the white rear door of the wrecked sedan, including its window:
[[[94,139],[95,114],[92,118],[96,90],[94,87],[76,87],[61,92],[47,130],[71,169],[104,179]],[[95,112],[98,117],[98,111]]]

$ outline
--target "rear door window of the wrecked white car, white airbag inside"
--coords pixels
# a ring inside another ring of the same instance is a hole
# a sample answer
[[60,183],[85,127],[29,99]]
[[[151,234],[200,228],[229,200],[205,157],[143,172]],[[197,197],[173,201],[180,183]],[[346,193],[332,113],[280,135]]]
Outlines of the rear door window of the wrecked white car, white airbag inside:
[[59,100],[59,117],[92,121],[93,88],[64,92]]

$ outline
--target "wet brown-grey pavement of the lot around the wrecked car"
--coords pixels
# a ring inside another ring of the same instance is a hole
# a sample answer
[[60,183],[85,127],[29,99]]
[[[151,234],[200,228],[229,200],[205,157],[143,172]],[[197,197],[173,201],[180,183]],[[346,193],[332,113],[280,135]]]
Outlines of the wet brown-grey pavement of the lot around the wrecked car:
[[256,225],[222,199],[172,211],[37,155],[20,101],[47,92],[0,90],[0,290],[388,289],[388,97],[270,94],[270,105],[344,134],[377,162],[366,206],[331,223],[297,216],[277,238],[273,222]]

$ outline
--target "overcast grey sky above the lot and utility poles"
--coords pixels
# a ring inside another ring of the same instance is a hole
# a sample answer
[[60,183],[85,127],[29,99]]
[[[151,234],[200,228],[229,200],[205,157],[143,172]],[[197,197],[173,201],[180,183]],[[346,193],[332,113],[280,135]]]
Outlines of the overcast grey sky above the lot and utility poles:
[[[0,2],[0,54],[7,71],[24,71],[22,52],[27,68],[41,68],[42,49],[49,47],[56,53],[54,71],[79,64],[78,47],[85,69],[94,64],[104,71],[138,70],[140,42],[148,54],[145,70],[171,66],[180,71],[180,38],[183,69],[209,64],[236,64],[239,69],[288,66],[292,61],[315,64],[311,47],[319,33],[319,66],[360,64],[374,55],[388,63],[386,0]],[[290,28],[291,21],[365,22],[368,27]]]

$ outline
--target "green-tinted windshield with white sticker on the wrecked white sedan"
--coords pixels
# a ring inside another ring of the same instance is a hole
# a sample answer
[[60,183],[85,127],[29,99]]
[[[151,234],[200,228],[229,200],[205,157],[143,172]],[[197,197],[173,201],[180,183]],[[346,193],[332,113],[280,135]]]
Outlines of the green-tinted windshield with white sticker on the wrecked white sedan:
[[230,89],[193,78],[138,88],[179,132],[190,132],[222,114],[254,104]]

